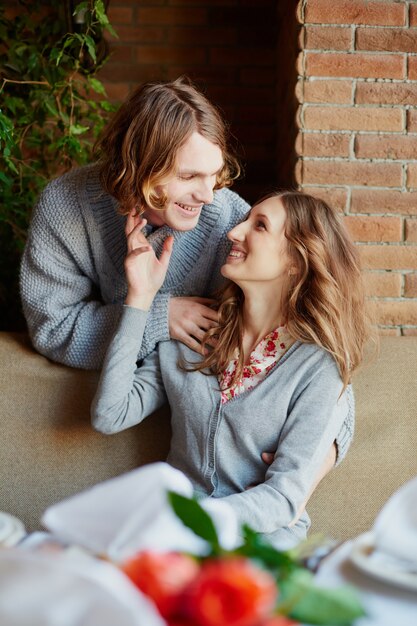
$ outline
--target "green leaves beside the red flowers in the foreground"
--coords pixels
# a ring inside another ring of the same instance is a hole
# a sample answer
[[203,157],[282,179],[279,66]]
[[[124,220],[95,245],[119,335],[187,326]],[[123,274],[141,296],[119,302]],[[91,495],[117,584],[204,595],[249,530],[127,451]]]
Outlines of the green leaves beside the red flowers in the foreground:
[[344,585],[328,589],[316,585],[313,574],[295,556],[297,550],[279,551],[248,526],[242,528],[243,543],[239,548],[222,550],[210,516],[194,498],[174,492],[169,492],[168,498],[183,524],[208,542],[209,552],[205,558],[239,554],[274,576],[279,589],[277,615],[321,626],[349,626],[365,615],[353,587]]

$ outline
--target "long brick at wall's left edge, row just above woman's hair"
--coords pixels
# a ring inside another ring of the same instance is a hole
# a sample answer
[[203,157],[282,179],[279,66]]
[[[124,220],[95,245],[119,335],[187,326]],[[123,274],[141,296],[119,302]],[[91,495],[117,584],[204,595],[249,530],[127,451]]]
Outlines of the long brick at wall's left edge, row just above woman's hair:
[[401,180],[401,165],[397,163],[312,161],[305,159],[303,161],[301,182],[313,185],[399,187]]

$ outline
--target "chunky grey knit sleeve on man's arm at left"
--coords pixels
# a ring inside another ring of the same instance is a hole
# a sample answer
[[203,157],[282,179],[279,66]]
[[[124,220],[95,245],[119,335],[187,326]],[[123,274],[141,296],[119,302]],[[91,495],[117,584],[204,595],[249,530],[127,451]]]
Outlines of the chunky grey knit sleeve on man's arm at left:
[[20,271],[34,347],[48,358],[98,369],[121,313],[104,304],[79,206],[76,176],[52,181],[34,210]]

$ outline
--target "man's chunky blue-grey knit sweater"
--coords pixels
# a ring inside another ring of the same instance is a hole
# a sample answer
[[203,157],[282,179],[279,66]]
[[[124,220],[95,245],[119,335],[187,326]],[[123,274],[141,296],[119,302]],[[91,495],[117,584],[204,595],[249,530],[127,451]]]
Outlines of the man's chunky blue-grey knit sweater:
[[[226,233],[249,209],[223,189],[189,232],[162,226],[148,236],[157,254],[174,250],[154,300],[139,357],[169,339],[170,296],[210,295],[220,285]],[[125,218],[101,188],[96,165],[50,182],[34,210],[21,265],[21,299],[34,347],[54,361],[99,369],[126,296]]]

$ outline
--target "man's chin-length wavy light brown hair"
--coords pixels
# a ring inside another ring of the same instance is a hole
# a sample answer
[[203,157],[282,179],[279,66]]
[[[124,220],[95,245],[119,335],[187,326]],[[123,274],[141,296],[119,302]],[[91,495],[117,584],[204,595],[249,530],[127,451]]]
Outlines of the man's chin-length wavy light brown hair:
[[179,148],[193,132],[219,146],[224,165],[215,189],[230,186],[240,165],[229,146],[228,128],[217,108],[182,76],[173,82],[145,83],[115,113],[95,145],[104,189],[122,214],[164,209],[156,188],[175,175]]

